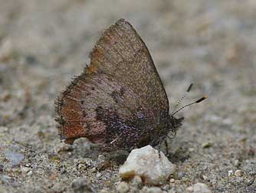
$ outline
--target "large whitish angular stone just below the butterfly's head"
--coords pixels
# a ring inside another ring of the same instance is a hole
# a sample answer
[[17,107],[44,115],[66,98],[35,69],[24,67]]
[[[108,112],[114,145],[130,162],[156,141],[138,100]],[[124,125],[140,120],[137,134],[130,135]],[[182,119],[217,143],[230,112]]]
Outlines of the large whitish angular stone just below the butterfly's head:
[[173,172],[175,165],[172,165],[162,152],[159,156],[159,151],[152,146],[133,149],[119,170],[122,178],[139,175],[145,183],[153,185],[163,184]]

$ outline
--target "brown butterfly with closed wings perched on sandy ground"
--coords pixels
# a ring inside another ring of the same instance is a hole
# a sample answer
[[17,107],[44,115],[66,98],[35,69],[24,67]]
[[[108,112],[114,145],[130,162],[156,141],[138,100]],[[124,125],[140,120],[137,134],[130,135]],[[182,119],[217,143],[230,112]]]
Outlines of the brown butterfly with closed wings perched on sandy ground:
[[169,132],[176,133],[183,119],[169,115],[166,91],[146,44],[124,19],[103,32],[90,65],[55,105],[64,142],[86,137],[106,149],[157,146]]

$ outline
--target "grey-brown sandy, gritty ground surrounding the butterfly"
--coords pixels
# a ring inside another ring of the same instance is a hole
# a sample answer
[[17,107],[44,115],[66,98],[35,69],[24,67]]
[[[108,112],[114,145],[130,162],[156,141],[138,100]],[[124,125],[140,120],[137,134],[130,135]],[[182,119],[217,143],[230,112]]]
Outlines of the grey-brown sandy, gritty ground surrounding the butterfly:
[[0,5],[0,192],[77,192],[77,178],[95,192],[116,191],[116,162],[98,157],[86,139],[72,147],[60,142],[54,99],[89,63],[101,31],[119,18],[149,47],[171,109],[189,83],[195,87],[184,103],[209,96],[179,113],[185,123],[169,141],[177,174],[162,191],[185,192],[196,182],[213,192],[256,191],[254,0]]

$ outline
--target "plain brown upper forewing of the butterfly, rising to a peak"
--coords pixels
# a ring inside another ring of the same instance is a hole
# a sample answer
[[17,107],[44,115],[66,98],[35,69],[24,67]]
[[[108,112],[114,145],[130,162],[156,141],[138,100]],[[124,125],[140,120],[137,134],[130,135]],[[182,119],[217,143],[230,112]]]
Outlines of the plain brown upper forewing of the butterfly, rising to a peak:
[[120,19],[103,32],[90,54],[90,65],[113,75],[124,87],[133,90],[138,103],[145,103],[144,113],[153,112],[153,117],[157,118],[162,113],[169,113],[166,91],[152,57],[127,21]]

